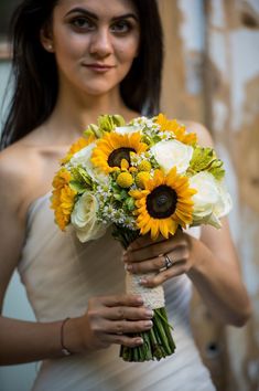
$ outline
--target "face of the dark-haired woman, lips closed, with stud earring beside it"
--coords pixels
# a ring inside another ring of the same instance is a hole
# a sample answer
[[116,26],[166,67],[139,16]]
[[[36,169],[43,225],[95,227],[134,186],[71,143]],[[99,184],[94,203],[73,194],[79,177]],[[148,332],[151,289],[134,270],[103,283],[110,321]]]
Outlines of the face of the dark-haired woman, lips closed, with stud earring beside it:
[[60,0],[47,39],[61,85],[106,94],[118,88],[138,54],[138,14],[130,0]]

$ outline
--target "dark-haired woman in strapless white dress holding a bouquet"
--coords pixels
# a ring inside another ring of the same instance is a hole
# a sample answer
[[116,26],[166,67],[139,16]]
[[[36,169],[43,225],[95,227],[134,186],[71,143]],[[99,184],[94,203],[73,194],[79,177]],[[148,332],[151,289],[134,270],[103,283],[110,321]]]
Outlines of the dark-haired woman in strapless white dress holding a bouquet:
[[[0,155],[0,303],[18,267],[37,323],[0,317],[0,362],[44,360],[34,390],[214,390],[190,331],[191,281],[223,323],[249,317],[226,221],[196,239],[142,237],[123,262],[131,273],[158,272],[143,285],[165,283],[177,350],[160,362],[123,362],[118,345],[143,344],[129,335],[150,329],[152,311],[122,294],[119,244],[108,233],[82,245],[53,222],[52,178],[86,126],[104,113],[126,120],[158,113],[161,36],[153,0],[26,0],[14,14],[14,95]],[[190,129],[211,142],[202,126]],[[173,260],[163,272],[161,254]]]

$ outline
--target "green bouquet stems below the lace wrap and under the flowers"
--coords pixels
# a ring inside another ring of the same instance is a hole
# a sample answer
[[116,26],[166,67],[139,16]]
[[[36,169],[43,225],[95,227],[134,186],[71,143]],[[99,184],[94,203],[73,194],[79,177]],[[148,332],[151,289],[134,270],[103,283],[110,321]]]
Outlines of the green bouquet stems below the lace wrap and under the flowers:
[[[128,230],[118,225],[115,225],[112,235],[120,241],[125,249],[140,236],[138,231]],[[147,294],[148,288],[144,289]],[[152,288],[150,288],[150,290]],[[148,331],[131,334],[131,337],[141,337],[143,345],[134,348],[120,347],[120,357],[125,361],[142,362],[161,360],[174,352],[175,344],[171,334],[172,326],[169,324],[165,307],[152,309],[154,313],[152,318],[153,327]]]

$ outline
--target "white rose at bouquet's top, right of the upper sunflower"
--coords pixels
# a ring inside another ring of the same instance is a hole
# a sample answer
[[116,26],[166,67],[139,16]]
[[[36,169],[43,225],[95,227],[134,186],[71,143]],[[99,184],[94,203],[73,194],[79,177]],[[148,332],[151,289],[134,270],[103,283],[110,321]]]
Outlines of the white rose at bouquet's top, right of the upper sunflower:
[[165,173],[174,166],[179,173],[185,172],[193,156],[193,147],[177,140],[160,141],[150,150]]

